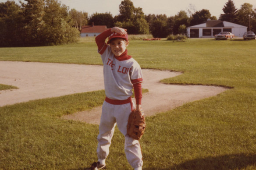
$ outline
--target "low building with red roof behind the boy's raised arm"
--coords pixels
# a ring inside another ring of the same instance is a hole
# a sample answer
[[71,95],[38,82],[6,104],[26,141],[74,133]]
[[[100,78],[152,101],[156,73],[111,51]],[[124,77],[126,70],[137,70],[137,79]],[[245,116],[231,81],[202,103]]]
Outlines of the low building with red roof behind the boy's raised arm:
[[106,25],[85,25],[82,26],[81,29],[81,37],[88,37],[88,36],[97,36],[101,32],[104,32],[107,29]]

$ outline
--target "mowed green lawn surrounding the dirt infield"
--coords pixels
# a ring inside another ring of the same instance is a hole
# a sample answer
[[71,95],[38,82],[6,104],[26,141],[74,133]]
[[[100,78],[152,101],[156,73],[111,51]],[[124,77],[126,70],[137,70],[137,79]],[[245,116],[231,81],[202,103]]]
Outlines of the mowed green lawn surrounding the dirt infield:
[[[255,40],[132,40],[128,54],[142,68],[184,72],[163,83],[230,88],[217,96],[147,117],[140,141],[144,170],[256,169]],[[91,41],[0,48],[0,60],[102,64]],[[101,90],[0,107],[0,169],[88,167],[97,160],[98,125],[60,117],[100,106],[103,100]],[[118,129],[107,169],[132,169]]]

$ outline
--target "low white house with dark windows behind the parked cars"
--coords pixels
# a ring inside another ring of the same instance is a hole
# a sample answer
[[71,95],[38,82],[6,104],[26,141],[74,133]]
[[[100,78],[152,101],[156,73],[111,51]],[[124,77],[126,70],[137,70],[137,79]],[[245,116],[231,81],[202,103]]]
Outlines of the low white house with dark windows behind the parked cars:
[[214,38],[219,32],[231,32],[236,37],[242,37],[247,27],[227,21],[208,20],[203,24],[193,25],[187,28],[189,38]]

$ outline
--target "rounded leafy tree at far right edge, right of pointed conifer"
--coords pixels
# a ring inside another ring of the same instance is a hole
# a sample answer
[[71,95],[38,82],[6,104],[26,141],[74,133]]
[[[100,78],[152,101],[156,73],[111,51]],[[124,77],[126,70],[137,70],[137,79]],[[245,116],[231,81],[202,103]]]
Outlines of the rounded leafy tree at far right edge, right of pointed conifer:
[[252,5],[249,3],[242,4],[241,8],[238,10],[237,16],[239,24],[247,26],[248,31],[250,31],[255,16]]

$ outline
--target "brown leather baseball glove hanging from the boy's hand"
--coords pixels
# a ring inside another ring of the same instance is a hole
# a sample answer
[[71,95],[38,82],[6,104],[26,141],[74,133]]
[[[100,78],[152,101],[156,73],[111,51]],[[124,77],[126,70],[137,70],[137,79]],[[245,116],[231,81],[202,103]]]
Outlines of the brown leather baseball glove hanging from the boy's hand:
[[128,118],[127,134],[136,140],[139,140],[146,129],[144,111],[132,110]]

